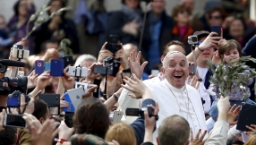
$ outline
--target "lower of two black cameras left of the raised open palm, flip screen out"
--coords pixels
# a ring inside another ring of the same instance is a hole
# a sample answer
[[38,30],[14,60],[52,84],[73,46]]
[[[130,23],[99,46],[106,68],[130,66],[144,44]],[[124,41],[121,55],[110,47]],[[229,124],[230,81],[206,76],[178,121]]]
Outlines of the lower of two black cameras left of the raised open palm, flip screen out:
[[119,71],[120,65],[121,63],[118,60],[107,57],[103,60],[103,65],[96,65],[94,67],[93,73],[105,75],[107,69],[107,75],[116,76]]

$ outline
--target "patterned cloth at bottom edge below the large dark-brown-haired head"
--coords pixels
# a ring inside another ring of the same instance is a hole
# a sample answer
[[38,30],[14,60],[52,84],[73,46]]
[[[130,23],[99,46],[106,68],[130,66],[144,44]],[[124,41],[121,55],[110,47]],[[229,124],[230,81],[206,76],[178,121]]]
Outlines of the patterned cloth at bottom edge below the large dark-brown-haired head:
[[108,145],[107,141],[91,134],[74,134],[70,141],[72,145]]

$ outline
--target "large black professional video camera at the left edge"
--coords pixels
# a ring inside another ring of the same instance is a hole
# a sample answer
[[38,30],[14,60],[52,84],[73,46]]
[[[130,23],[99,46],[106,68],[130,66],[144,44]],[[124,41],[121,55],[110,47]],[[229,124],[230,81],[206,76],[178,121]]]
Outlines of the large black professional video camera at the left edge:
[[[8,83],[8,87],[3,86],[3,82]],[[0,93],[8,94],[14,90],[20,90],[22,93],[27,92],[27,84],[28,78],[27,77],[3,77],[0,79]]]

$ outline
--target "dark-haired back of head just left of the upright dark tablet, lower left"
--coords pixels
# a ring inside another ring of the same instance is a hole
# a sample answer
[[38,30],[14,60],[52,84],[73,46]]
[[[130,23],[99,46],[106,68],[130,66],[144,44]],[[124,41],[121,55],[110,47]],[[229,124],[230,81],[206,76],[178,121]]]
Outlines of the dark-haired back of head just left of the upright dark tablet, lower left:
[[34,112],[32,113],[32,115],[34,115],[38,120],[40,120],[40,118],[46,120],[48,115],[47,103],[38,98],[34,99]]

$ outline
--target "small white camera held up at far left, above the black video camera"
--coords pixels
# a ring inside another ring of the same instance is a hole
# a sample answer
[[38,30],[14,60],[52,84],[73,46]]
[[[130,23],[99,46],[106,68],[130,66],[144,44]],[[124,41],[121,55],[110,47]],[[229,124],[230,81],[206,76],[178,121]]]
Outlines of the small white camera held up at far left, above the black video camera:
[[29,58],[30,51],[24,50],[22,45],[14,45],[13,46],[13,57],[23,59]]

